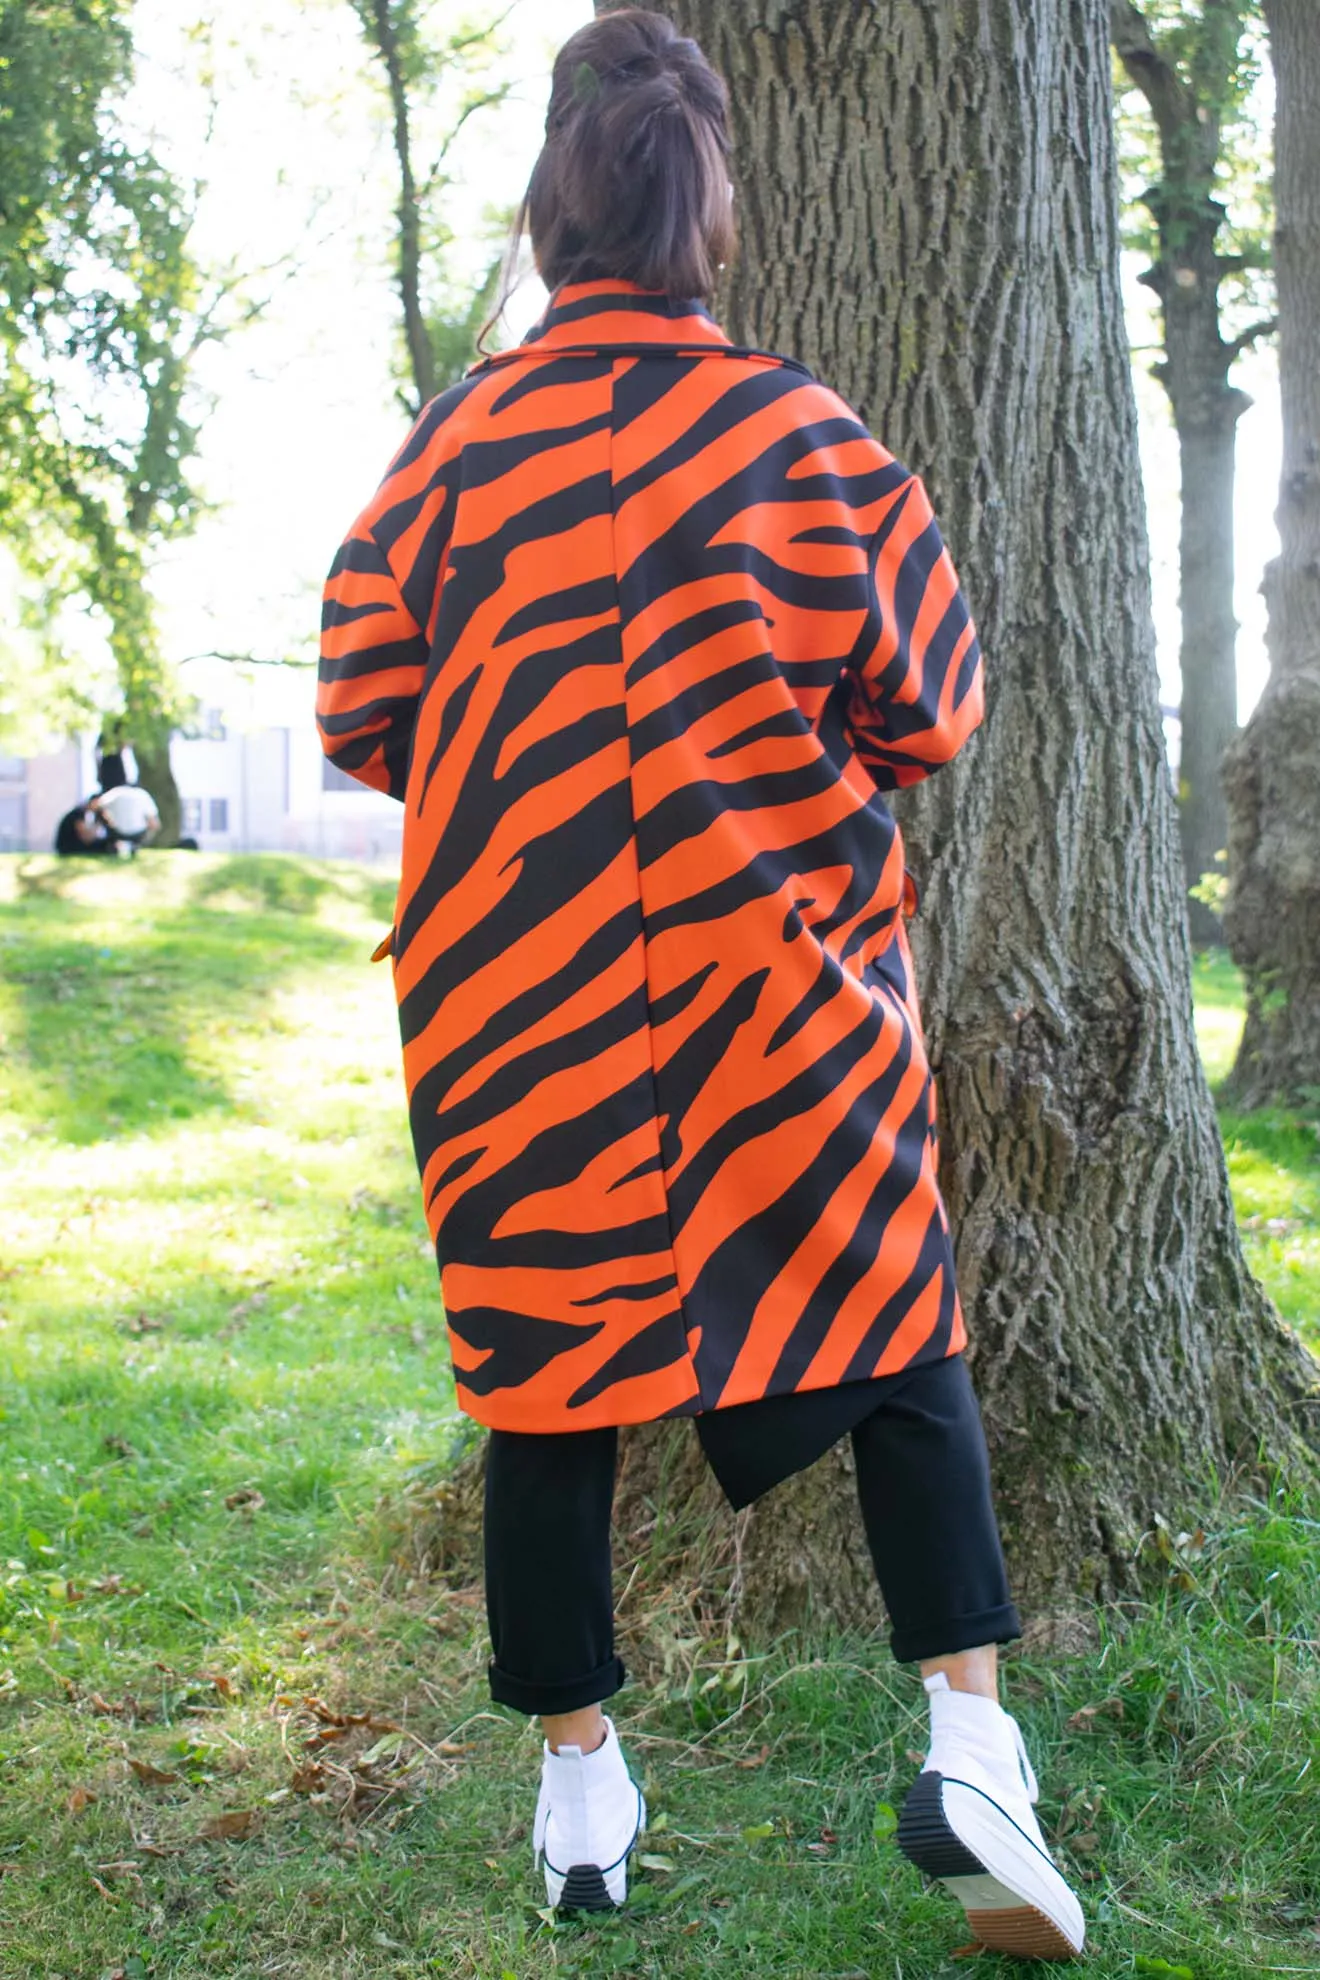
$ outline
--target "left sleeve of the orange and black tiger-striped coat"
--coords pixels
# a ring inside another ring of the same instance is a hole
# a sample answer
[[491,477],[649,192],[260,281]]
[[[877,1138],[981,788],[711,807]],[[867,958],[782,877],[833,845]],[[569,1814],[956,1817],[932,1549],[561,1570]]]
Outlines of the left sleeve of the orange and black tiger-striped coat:
[[422,414],[348,531],[321,612],[321,746],[338,770],[400,800],[453,521],[445,398]]

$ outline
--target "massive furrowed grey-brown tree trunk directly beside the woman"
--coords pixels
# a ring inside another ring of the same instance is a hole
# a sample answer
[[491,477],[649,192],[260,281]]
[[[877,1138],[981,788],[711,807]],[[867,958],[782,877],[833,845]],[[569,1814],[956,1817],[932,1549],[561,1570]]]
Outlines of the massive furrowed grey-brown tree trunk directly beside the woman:
[[[1130,1582],[1211,1469],[1318,1439],[1314,1362],[1243,1263],[1191,1028],[1108,0],[663,12],[730,87],[726,327],[805,358],[926,477],[982,626],[986,729],[902,826],[1005,1540],[1027,1602],[1067,1608]],[[625,1439],[623,1544],[716,1533],[720,1586],[762,1624],[875,1614],[845,1453],[720,1525],[685,1437]]]

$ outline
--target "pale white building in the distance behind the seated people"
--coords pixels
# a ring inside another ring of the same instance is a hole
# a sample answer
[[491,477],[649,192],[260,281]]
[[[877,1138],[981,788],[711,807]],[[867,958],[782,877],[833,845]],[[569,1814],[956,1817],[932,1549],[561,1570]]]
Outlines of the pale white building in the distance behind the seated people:
[[[293,851],[398,865],[404,814],[321,752],[309,667],[192,661],[198,721],[170,744],[182,832],[204,851]],[[0,851],[49,851],[59,818],[97,788],[93,737],[0,756]]]

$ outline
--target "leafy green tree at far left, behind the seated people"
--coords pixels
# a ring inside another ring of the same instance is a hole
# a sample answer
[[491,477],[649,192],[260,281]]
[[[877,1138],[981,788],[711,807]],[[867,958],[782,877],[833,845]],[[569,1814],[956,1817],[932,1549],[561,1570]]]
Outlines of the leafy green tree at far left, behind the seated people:
[[99,618],[168,830],[178,691],[146,554],[196,507],[196,271],[180,188],[119,123],[131,69],[125,0],[0,0],[0,537],[36,580],[47,647],[61,602]]

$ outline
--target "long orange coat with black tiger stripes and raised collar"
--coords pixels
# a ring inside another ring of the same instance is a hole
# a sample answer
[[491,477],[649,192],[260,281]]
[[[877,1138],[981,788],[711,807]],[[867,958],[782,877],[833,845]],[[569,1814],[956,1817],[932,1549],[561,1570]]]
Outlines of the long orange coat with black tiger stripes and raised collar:
[[334,560],[319,725],[404,802],[412,1133],[479,1422],[962,1348],[881,792],[980,715],[920,481],[695,305],[560,289],[424,410]]

